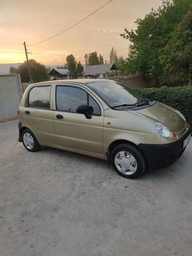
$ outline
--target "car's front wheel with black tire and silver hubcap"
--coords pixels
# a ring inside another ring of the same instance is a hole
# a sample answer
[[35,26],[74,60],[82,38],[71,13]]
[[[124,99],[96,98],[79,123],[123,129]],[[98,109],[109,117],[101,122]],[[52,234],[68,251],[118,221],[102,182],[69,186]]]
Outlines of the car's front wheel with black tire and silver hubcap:
[[142,152],[132,144],[120,144],[111,154],[111,163],[118,174],[134,179],[143,174],[146,160]]

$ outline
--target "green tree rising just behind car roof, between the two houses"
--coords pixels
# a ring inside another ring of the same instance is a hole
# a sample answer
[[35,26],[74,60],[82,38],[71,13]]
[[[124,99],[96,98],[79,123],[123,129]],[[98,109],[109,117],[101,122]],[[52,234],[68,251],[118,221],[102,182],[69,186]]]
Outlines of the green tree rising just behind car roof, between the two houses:
[[66,64],[68,73],[72,76],[72,78],[77,78],[78,76],[83,75],[84,67],[81,65],[80,61],[75,60],[75,57],[71,54],[66,57]]

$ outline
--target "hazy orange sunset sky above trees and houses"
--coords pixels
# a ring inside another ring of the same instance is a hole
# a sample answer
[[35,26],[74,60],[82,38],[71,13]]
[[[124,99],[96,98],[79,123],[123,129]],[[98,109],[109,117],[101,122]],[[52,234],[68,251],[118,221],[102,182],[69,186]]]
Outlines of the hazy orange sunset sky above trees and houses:
[[[108,0],[6,0],[0,2],[0,63],[25,60],[23,41],[34,44],[57,34],[100,8]],[[113,0],[71,30],[47,42],[29,46],[29,59],[46,64],[63,64],[73,54],[84,63],[85,53],[97,51],[108,61],[112,46],[117,55],[128,54],[129,42],[119,36],[135,29],[161,0]],[[6,52],[6,53],[2,53]],[[10,53],[8,53],[10,52]]]

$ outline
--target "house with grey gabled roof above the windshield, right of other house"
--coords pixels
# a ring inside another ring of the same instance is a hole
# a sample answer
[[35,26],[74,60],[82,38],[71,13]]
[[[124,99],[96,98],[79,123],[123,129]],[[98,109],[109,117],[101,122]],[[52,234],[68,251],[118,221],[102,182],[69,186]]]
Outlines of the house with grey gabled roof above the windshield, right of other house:
[[100,65],[86,66],[84,69],[85,78],[105,78],[107,73],[117,71],[115,63],[105,63]]

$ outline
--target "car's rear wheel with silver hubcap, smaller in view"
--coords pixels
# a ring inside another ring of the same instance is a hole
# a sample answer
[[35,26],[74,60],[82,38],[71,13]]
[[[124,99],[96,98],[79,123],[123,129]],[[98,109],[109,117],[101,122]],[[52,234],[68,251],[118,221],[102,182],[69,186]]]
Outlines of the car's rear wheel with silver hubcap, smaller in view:
[[30,131],[29,129],[25,129],[22,131],[21,138],[23,146],[26,150],[30,152],[35,152],[40,149],[40,145],[37,139],[35,138],[33,132]]

